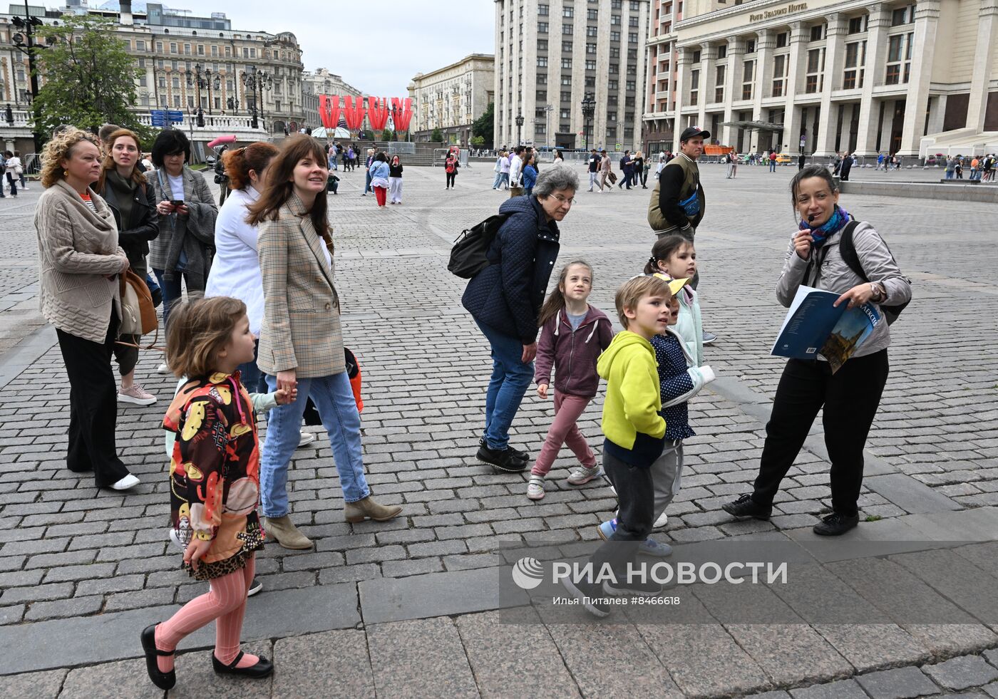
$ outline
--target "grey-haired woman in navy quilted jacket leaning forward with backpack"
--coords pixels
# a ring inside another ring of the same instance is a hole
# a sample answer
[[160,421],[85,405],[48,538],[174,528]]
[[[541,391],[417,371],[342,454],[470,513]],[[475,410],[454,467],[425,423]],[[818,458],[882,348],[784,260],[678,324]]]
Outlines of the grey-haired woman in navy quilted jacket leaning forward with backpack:
[[477,458],[498,471],[523,471],[530,459],[509,446],[509,428],[534,377],[537,319],[558,258],[558,222],[571,210],[578,188],[578,175],[552,168],[538,176],[532,195],[503,202],[499,213],[509,217],[489,246],[489,265],[468,282],[461,298],[491,347]]

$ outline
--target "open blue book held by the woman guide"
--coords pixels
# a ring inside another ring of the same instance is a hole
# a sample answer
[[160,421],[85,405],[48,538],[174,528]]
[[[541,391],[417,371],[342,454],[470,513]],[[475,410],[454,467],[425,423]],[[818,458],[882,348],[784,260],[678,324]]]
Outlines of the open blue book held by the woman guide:
[[841,294],[801,285],[783,318],[771,354],[792,359],[828,360],[832,373],[845,364],[881,322],[880,312],[866,303],[847,310],[832,304]]

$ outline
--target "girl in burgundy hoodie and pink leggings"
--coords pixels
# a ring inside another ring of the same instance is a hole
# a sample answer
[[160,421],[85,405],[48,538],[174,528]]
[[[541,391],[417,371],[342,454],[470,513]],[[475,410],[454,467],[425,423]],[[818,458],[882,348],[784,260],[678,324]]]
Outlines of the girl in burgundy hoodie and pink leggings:
[[537,344],[534,381],[537,395],[546,401],[554,368],[554,422],[530,470],[527,484],[530,500],[544,497],[544,479],[562,445],[568,445],[579,460],[579,466],[569,474],[570,486],[582,486],[600,474],[596,455],[576,424],[596,397],[600,384],[596,360],[614,337],[610,319],[588,303],[592,290],[593,268],[589,263],[569,262],[562,268],[558,286],[548,295],[537,319],[541,339]]

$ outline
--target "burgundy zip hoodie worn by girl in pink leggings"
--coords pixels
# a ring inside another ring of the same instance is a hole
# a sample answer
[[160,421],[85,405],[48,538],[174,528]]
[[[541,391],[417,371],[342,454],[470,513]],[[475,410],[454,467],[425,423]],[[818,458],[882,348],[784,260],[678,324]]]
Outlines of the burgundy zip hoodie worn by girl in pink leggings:
[[534,381],[537,385],[551,384],[551,369],[556,367],[555,390],[571,396],[593,398],[600,385],[596,360],[614,339],[610,318],[596,306],[589,311],[579,329],[573,331],[565,309],[541,328],[537,342]]

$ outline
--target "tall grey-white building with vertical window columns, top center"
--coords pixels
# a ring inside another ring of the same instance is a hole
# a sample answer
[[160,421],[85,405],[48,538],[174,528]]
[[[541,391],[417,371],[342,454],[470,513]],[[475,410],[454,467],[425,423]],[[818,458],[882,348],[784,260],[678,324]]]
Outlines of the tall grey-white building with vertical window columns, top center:
[[[497,145],[634,150],[650,7],[650,0],[495,0]],[[582,107],[588,95],[596,103],[591,120]]]

